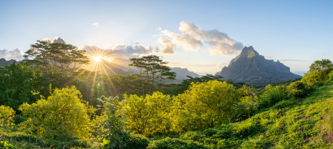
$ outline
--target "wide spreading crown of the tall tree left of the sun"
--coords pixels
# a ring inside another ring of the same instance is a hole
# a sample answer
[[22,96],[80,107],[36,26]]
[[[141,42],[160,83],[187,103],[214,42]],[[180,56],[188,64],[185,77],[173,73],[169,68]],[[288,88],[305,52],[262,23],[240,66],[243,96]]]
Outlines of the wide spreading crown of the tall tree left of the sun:
[[85,50],[78,50],[70,44],[37,40],[37,43],[30,46],[24,58],[30,57],[33,60],[25,61],[47,75],[61,73],[64,77],[78,70],[81,65],[89,64],[89,59],[84,56]]

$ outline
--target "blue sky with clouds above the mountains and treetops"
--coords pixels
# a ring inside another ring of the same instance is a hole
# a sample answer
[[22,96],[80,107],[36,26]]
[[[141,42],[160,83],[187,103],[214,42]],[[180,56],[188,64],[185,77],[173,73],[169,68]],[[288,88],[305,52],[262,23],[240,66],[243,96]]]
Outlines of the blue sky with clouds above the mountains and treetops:
[[294,74],[331,59],[332,0],[0,0],[0,58],[23,59],[58,37],[109,61],[157,55],[171,67],[215,74],[243,47]]

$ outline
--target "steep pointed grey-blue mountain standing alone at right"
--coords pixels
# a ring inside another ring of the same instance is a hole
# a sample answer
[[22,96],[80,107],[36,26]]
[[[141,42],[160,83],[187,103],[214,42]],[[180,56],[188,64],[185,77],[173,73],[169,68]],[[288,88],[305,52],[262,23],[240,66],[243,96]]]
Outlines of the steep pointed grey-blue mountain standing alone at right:
[[302,77],[291,73],[290,68],[279,61],[266,60],[252,46],[244,47],[241,54],[232,59],[228,67],[224,67],[216,74],[222,75],[224,80],[232,79],[234,82],[248,84],[268,84]]

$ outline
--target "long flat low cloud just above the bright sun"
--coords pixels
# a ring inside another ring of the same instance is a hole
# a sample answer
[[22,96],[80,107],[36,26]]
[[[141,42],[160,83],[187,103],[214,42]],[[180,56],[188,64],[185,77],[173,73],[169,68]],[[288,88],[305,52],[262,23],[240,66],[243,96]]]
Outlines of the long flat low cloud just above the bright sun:
[[86,50],[89,56],[102,56],[107,61],[112,61],[114,58],[138,58],[140,55],[150,54],[153,51],[152,47],[145,47],[142,45],[116,45],[109,49],[102,49],[98,46],[83,45],[82,50]]

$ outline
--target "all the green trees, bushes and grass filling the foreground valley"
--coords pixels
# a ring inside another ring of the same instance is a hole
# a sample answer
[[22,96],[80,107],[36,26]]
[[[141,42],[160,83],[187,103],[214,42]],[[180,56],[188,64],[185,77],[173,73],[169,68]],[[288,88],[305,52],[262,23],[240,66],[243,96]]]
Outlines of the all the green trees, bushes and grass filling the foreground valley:
[[333,146],[330,60],[314,62],[302,79],[265,86],[212,75],[164,84],[175,74],[157,56],[132,59],[140,74],[106,75],[70,65],[89,63],[70,49],[38,41],[26,54],[45,56],[0,68],[0,148]]

